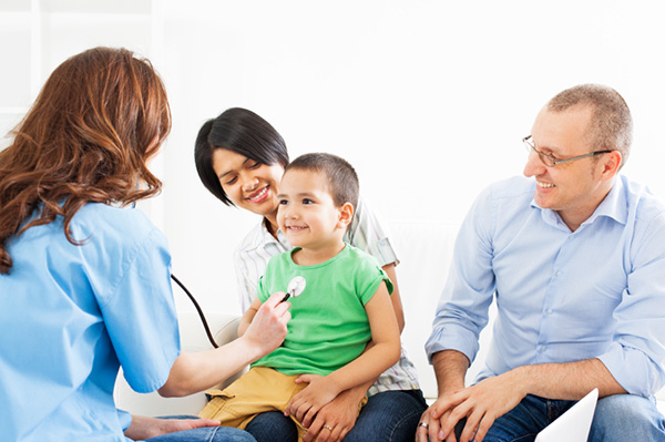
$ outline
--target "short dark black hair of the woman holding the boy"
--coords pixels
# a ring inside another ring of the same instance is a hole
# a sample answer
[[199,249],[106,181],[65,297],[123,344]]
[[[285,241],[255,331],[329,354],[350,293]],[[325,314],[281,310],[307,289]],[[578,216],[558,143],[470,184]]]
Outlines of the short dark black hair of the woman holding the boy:
[[194,161],[203,185],[227,206],[234,204],[222,188],[213,168],[213,154],[218,148],[235,152],[262,164],[286,167],[288,152],[282,135],[252,111],[232,107],[206,121],[196,136]]

